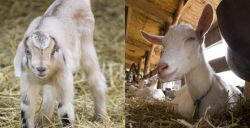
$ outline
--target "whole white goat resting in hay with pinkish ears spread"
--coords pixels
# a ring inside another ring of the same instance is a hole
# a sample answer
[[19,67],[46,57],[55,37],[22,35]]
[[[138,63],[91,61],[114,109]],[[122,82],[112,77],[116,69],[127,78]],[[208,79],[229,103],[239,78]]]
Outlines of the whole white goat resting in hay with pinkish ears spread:
[[202,44],[212,21],[213,9],[207,5],[196,30],[180,24],[170,27],[165,36],[142,32],[148,41],[164,47],[158,66],[160,78],[173,81],[185,77],[186,86],[173,103],[177,104],[175,110],[186,118],[202,116],[208,106],[212,111],[217,110],[227,100],[237,101],[241,94],[236,87],[225,84],[204,60]]

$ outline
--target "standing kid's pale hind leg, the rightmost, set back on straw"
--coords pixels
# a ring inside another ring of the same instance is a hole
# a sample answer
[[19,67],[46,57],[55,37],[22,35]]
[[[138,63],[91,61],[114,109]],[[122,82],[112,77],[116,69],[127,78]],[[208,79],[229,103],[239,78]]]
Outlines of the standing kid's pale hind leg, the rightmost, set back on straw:
[[[89,43],[89,42],[87,42]],[[87,77],[87,83],[90,86],[94,98],[95,116],[94,120],[103,121],[107,119],[106,112],[106,82],[100,70],[98,59],[93,44],[85,44],[82,50],[82,68]]]

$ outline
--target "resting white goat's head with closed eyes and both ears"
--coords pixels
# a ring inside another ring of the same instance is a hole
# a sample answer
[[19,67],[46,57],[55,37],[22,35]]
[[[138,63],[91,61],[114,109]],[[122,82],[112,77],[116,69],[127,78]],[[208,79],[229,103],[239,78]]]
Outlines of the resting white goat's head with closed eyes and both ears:
[[179,24],[171,26],[165,36],[141,32],[149,42],[163,46],[163,54],[158,65],[159,77],[163,81],[181,79],[199,64],[204,35],[212,21],[213,8],[206,5],[196,30],[190,25]]

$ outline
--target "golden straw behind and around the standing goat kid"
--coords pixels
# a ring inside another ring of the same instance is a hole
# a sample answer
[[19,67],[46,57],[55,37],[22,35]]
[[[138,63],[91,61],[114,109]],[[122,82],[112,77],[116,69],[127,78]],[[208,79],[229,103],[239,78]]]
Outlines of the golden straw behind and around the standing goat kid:
[[[0,0],[0,127],[20,127],[19,80],[14,76],[12,61],[18,42],[28,24],[42,15],[53,0]],[[75,76],[76,127],[124,127],[124,3],[122,0],[92,0],[96,18],[94,34],[99,62],[108,83],[110,121],[92,122],[93,103],[84,76]],[[58,127],[55,113],[46,126]]]

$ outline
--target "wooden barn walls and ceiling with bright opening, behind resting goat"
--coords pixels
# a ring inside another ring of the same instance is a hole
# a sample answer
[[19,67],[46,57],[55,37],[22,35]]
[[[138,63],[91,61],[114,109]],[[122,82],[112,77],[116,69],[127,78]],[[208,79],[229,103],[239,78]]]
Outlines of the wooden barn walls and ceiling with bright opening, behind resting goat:
[[[150,34],[165,35],[171,25],[181,22],[194,28],[206,4],[216,10],[221,0],[126,0],[126,43],[125,68],[127,79],[133,72],[135,82],[157,73],[162,53],[160,45],[147,42],[141,35],[143,30]],[[214,11],[214,15],[215,11]],[[226,62],[227,45],[220,36],[216,16],[206,34],[204,54],[206,60],[225,81],[235,86],[244,86],[245,81],[230,71]],[[182,82],[184,83],[184,82]],[[160,84],[160,83],[159,83]]]

